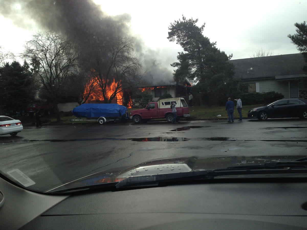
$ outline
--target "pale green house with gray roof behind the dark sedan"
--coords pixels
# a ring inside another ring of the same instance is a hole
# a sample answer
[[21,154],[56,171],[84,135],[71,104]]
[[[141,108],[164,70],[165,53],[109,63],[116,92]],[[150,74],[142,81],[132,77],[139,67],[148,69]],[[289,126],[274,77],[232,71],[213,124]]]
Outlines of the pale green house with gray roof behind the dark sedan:
[[286,54],[230,60],[235,66],[235,78],[248,83],[248,92],[282,93],[285,98],[307,98],[307,89],[298,80],[305,77],[303,54]]

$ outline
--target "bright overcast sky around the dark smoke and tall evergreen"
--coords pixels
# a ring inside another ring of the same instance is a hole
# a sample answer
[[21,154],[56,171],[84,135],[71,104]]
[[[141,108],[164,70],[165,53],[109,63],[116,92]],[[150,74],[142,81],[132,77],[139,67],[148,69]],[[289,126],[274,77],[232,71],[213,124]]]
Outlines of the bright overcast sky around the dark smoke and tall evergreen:
[[[4,1],[10,2],[0,0],[0,4]],[[181,51],[179,45],[167,39],[168,26],[182,14],[187,18],[198,18],[199,26],[205,22],[204,36],[216,41],[216,46],[227,55],[232,53],[232,59],[249,58],[258,49],[270,49],[274,55],[297,53],[287,35],[295,33],[295,22],[307,21],[307,0],[94,2],[109,15],[130,14],[134,35],[140,36],[146,46],[155,50],[159,62],[168,68]],[[21,6],[16,2],[13,4],[18,13]],[[16,54],[23,50],[22,46],[31,39],[31,34],[43,29],[31,21],[28,23],[32,25],[30,28],[17,27],[2,15],[0,23],[0,45]]]

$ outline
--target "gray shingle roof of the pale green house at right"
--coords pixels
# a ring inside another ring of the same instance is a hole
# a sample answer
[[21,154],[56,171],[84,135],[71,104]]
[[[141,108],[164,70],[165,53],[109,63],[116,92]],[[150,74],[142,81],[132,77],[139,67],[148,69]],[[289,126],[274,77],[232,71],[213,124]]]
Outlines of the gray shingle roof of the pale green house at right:
[[305,75],[302,68],[306,62],[301,53],[236,59],[230,62],[235,66],[235,78],[242,80]]

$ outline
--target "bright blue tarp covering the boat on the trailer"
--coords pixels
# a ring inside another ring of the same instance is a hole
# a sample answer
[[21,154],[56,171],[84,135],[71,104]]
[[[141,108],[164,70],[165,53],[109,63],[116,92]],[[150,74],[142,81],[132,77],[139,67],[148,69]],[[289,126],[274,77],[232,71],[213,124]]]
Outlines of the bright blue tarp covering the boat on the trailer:
[[76,117],[119,117],[126,113],[127,107],[118,104],[82,104],[72,113]]

